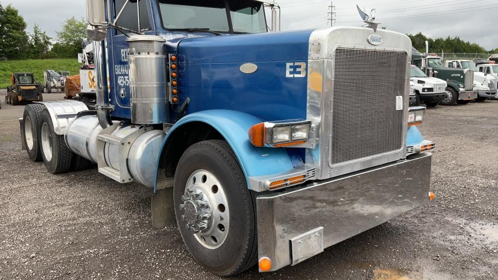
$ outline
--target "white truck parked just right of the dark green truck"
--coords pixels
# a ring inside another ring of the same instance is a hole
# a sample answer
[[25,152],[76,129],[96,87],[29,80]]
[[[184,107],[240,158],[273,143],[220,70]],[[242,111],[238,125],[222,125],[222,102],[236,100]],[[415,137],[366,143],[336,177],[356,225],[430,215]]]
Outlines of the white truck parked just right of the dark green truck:
[[465,59],[446,60],[445,65],[450,68],[471,69],[474,71],[474,90],[479,94],[476,101],[482,102],[488,98],[496,97],[498,79],[495,76],[479,72],[474,61]]

